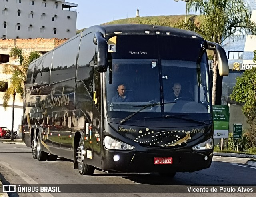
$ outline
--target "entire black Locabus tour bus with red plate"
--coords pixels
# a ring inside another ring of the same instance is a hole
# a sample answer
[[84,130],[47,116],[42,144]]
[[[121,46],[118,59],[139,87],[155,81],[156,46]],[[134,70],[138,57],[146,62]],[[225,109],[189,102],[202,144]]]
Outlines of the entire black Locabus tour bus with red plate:
[[[172,177],[210,167],[207,49],[216,52],[219,75],[228,75],[219,44],[152,25],[92,26],[34,60],[23,131],[34,159],[71,159],[82,175],[102,169]],[[168,99],[175,83],[182,94]],[[113,99],[120,84],[127,102]]]

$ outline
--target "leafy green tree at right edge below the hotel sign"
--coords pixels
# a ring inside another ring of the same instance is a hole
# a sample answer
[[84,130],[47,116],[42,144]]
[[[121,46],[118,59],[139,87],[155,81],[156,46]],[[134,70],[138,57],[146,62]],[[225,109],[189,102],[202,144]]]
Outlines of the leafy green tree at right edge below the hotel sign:
[[236,78],[236,85],[230,98],[244,103],[242,112],[250,124],[251,134],[256,139],[256,68],[246,70],[242,76]]

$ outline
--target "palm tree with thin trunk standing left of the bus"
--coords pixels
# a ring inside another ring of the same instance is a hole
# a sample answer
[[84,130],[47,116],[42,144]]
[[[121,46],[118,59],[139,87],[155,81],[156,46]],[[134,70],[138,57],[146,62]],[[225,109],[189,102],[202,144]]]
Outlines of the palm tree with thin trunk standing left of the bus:
[[[14,107],[15,107],[15,96],[18,93],[20,98],[24,98],[24,87],[26,82],[26,74],[28,65],[38,58],[40,55],[38,52],[31,52],[28,58],[24,58],[22,49],[14,47],[10,51],[10,56],[18,56],[20,58],[20,65],[6,65],[4,68],[5,74],[10,74],[11,78],[8,89],[4,92],[3,105],[4,109],[8,106],[10,97],[12,96],[12,128],[11,128],[11,140],[13,140],[13,124],[14,124]],[[0,84],[3,86],[4,83]]]

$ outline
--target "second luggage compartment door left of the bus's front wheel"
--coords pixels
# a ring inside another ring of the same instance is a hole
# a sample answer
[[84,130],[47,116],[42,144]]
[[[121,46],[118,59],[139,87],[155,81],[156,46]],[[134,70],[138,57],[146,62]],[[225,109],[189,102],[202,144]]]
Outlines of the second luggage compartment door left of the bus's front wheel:
[[54,155],[61,155],[60,151],[60,112],[52,112],[52,132],[50,133],[52,139],[52,148]]

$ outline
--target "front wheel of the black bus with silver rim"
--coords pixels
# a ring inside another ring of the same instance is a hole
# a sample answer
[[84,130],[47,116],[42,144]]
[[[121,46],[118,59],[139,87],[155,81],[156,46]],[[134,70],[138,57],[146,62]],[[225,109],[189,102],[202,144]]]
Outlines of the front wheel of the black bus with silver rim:
[[77,148],[77,163],[78,163],[78,171],[81,175],[93,175],[94,173],[94,166],[87,165],[86,164],[86,158],[85,158],[86,152],[84,149],[84,141],[81,136],[78,148]]

